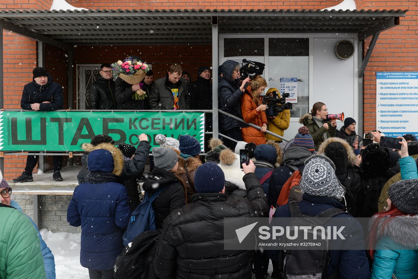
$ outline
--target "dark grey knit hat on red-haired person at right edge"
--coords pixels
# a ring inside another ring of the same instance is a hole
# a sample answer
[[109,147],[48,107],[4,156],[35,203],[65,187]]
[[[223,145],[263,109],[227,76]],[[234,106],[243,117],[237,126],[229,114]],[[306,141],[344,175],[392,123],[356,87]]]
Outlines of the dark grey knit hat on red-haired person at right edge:
[[393,183],[389,190],[390,201],[403,213],[418,214],[418,179]]

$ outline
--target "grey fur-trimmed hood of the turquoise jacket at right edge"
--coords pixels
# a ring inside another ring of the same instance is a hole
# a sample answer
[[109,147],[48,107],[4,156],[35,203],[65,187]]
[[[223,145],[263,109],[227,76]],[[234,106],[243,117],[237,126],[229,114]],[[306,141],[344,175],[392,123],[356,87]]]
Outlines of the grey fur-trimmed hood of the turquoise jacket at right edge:
[[[383,226],[384,222],[389,222]],[[391,238],[395,243],[403,245],[408,248],[417,248],[418,243],[418,215],[415,216],[386,216],[383,218],[373,216],[369,221],[369,230],[375,224],[379,222],[376,228],[376,239],[383,238],[385,236]]]

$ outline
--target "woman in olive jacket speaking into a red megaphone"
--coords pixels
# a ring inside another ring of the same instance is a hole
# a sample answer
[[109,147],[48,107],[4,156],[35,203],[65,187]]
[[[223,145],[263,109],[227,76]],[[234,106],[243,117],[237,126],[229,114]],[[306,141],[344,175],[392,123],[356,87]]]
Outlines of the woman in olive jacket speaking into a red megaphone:
[[303,115],[299,123],[308,127],[309,134],[312,136],[315,144],[315,150],[318,150],[324,140],[329,137],[335,137],[337,123],[335,119],[326,121],[328,109],[322,102],[314,103],[311,113]]

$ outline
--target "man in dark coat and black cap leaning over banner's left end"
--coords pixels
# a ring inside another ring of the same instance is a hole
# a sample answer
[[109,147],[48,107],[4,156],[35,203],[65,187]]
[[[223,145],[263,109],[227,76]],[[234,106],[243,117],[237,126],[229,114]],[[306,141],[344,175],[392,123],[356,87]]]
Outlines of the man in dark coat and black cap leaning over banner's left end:
[[[42,67],[33,69],[33,81],[23,88],[20,107],[32,111],[56,111],[62,109],[63,96],[62,87],[54,83],[52,77]],[[13,182],[31,182],[33,181],[32,171],[38,163],[38,155],[28,156],[26,159],[25,171],[13,179]],[[62,156],[52,156],[54,163],[54,174],[52,178],[55,181],[62,181],[61,167]]]

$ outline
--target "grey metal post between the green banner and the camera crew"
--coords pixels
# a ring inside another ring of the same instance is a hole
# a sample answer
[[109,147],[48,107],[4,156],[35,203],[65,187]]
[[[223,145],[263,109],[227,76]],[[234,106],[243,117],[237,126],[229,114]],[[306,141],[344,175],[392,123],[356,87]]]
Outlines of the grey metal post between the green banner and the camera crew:
[[212,137],[218,137],[218,17],[212,16]]

